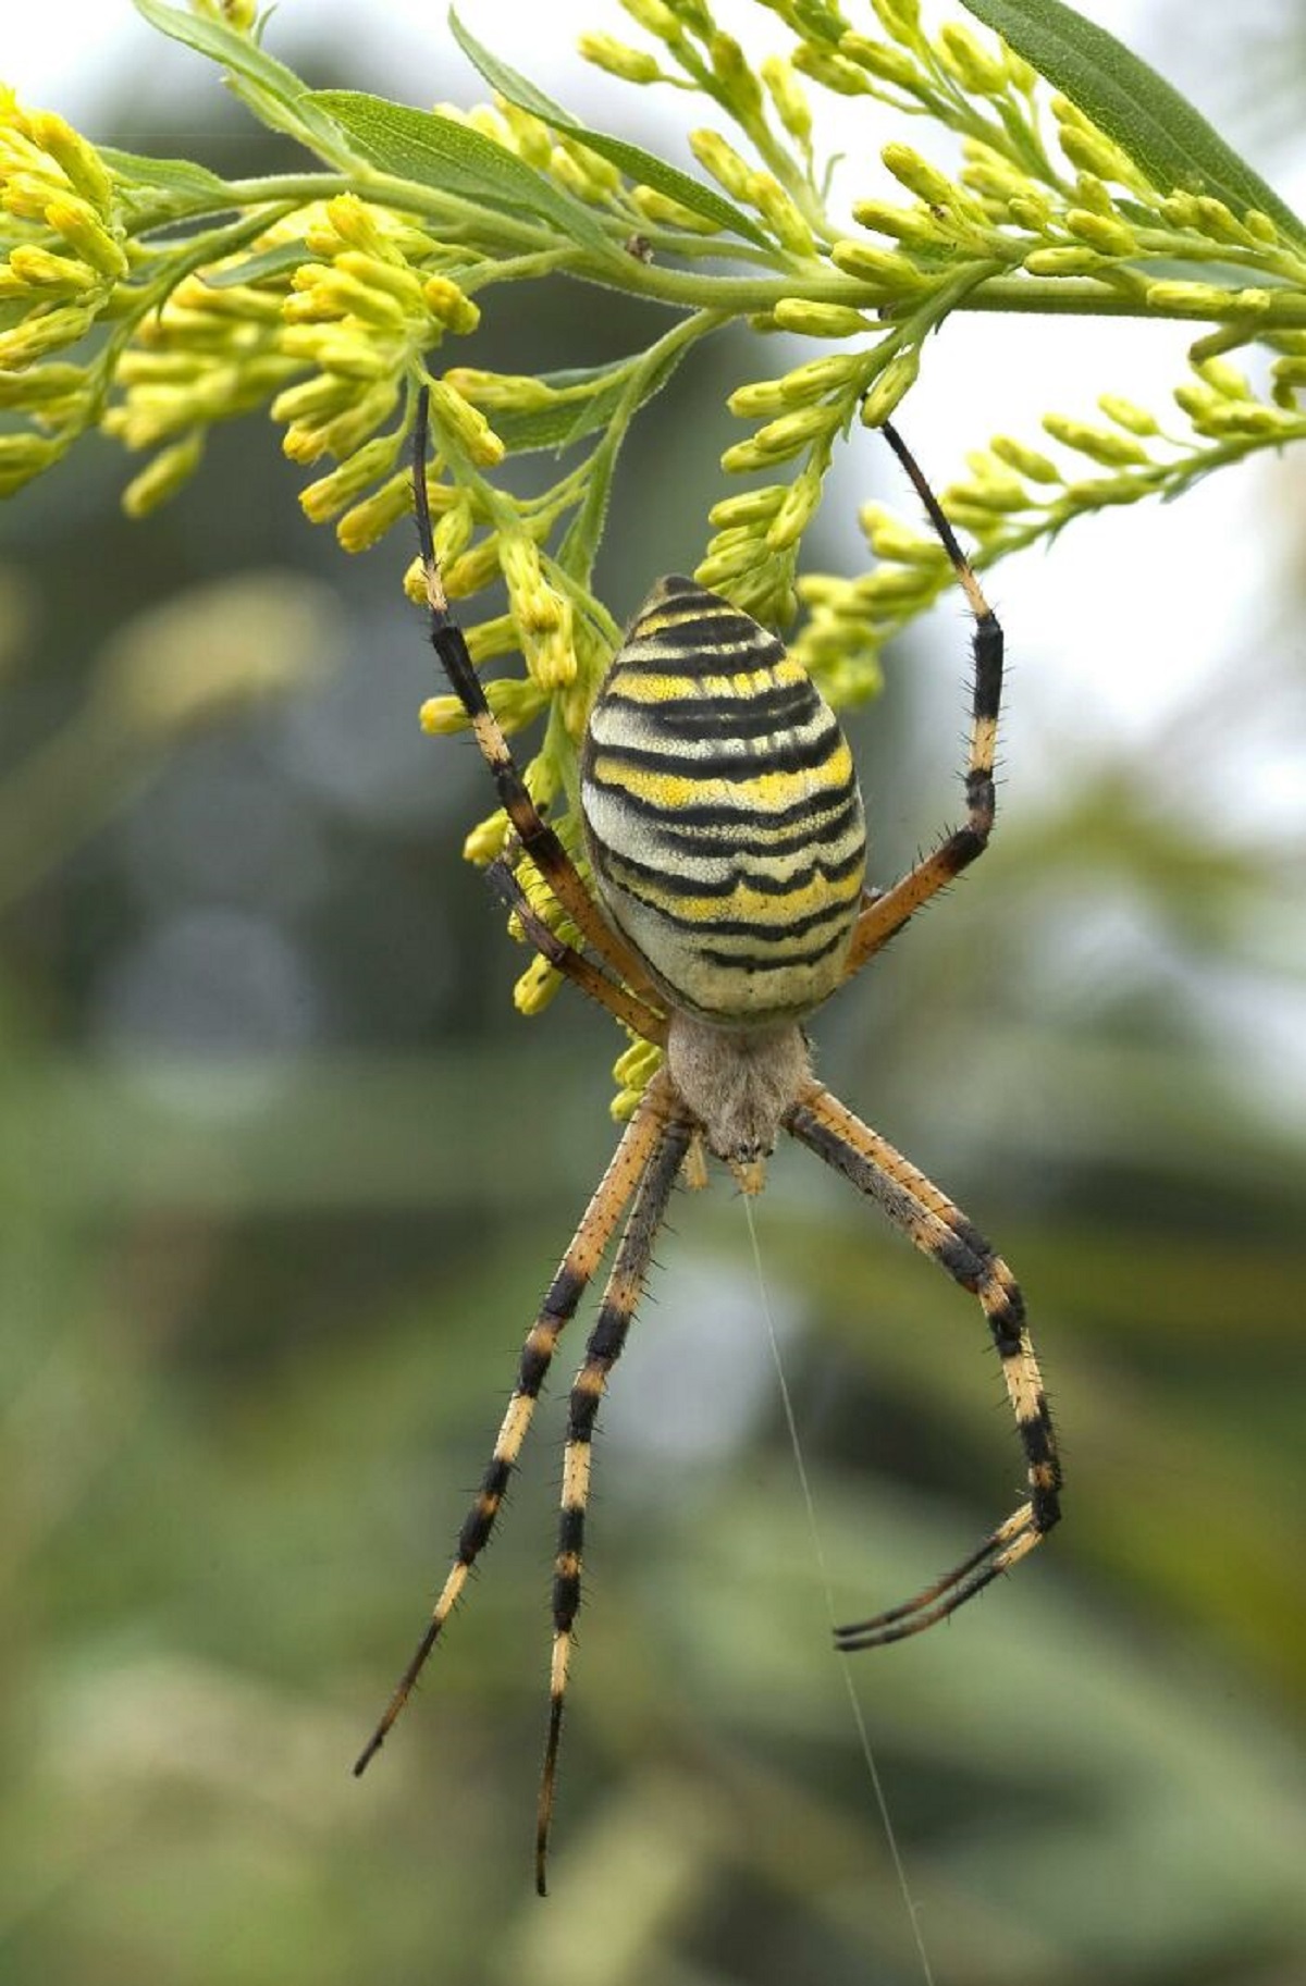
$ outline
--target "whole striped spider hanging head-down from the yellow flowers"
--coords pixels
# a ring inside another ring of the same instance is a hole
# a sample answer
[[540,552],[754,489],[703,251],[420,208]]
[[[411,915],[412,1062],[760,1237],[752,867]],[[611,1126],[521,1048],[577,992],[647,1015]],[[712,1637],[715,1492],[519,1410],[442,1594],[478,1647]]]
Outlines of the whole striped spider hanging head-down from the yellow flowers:
[[[1052,1418],[1016,1281],[977,1227],[901,1152],[812,1074],[804,1019],[853,979],[988,846],[1002,689],[1002,630],[915,459],[883,435],[939,534],[975,616],[967,824],[891,888],[867,892],[865,818],[851,753],[806,671],[758,622],[687,578],[659,580],[595,695],[582,751],[582,814],[595,894],[542,818],[449,612],[427,500],[427,397],[413,493],[431,643],[462,701],[516,842],[582,935],[564,943],[506,860],[490,866],[538,951],[635,1035],[665,1051],[530,1327],[508,1410],[417,1650],[355,1773],[385,1742],[484,1551],[564,1325],[625,1227],[572,1384],[554,1567],[550,1722],[536,1817],[546,1893],[558,1742],[580,1609],[591,1438],[621,1356],[677,1176],[707,1178],[705,1148],[744,1194],[760,1192],[784,1130],[979,1297],[1024,1448],[1028,1501],[913,1599],[836,1629],[838,1648],[877,1648],[947,1619],[1052,1529],[1062,1486]],[[627,1211],[629,1209],[629,1211]]]

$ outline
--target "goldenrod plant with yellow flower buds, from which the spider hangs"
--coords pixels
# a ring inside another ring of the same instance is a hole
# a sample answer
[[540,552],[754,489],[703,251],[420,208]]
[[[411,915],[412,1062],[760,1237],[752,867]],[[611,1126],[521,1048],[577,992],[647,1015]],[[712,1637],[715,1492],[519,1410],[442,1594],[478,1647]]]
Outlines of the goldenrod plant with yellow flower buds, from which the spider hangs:
[[[462,608],[468,647],[476,663],[522,657],[488,683],[490,707],[506,733],[542,727],[526,780],[580,856],[576,747],[619,639],[591,590],[607,498],[631,423],[705,340],[742,324],[762,350],[776,330],[814,342],[728,397],[744,433],[720,469],[740,487],[722,483],[707,514],[697,578],[784,628],[836,705],[875,691],[885,639],[951,568],[937,538],[879,506],[861,514],[865,574],[800,572],[804,532],[836,447],[893,413],[953,312],[1195,330],[1163,415],[1102,381],[1092,411],[969,453],[943,506],[977,568],[1306,435],[1306,224],[1119,42],[1060,0],[969,0],[986,32],[931,28],[917,0],[756,4],[780,44],[758,66],[709,0],[621,0],[639,44],[582,38],[613,79],[617,129],[619,83],[703,99],[709,121],[673,163],[580,123],[457,14],[490,99],[413,109],[308,87],[268,52],[248,0],[135,0],[316,165],[226,181],[95,147],[56,111],[0,97],[0,489],[99,427],[143,457],[123,495],[143,516],[195,475],[216,421],[266,411],[314,471],[306,514],[361,552],[411,510],[409,435],[429,385],[445,588],[464,604],[504,582],[506,612]],[[867,197],[865,159],[836,169],[832,97],[867,99],[867,151],[877,105],[919,119],[919,147],[879,151],[893,199]],[[961,165],[931,157],[957,141]],[[518,373],[460,363],[486,314],[530,324],[520,286],[546,276],[661,302],[667,330],[564,373],[530,371],[528,342]],[[560,473],[512,495],[496,471],[532,451]],[[417,562],[407,588],[423,598]],[[464,721],[455,697],[423,709],[435,733]],[[490,862],[506,832],[502,812],[482,820],[468,858]],[[522,884],[558,922],[536,878]],[[518,1005],[534,1011],[554,985],[536,961]],[[631,1053],[627,1102],[649,1061]]]

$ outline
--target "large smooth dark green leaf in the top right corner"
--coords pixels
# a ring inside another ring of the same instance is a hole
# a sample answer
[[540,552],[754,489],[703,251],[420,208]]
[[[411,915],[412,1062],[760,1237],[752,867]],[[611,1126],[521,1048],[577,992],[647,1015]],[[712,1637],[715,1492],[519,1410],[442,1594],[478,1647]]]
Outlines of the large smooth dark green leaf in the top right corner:
[[1153,187],[1213,195],[1235,214],[1254,207],[1306,246],[1306,224],[1274,189],[1187,97],[1106,28],[1062,0],[965,0],[965,6],[1092,117]]

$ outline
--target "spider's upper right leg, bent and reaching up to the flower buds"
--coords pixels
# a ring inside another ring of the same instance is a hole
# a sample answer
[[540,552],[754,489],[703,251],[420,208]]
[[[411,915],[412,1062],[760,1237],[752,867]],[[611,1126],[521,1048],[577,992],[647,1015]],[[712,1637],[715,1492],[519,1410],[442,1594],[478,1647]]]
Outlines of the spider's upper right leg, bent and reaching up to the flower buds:
[[881,945],[885,945],[917,910],[937,896],[955,876],[961,876],[988,846],[992,816],[996,810],[992,786],[992,761],[998,739],[998,705],[1002,701],[1002,630],[998,618],[984,600],[971,564],[957,544],[953,526],[939,508],[939,498],[921,475],[915,459],[907,451],[901,435],[887,421],[883,437],[911,477],[917,496],[929,512],[929,520],[943,540],[943,548],[953,560],[967,604],[975,614],[975,695],[971,705],[971,751],[967,759],[967,824],[947,834],[933,854],[907,870],[889,890],[865,906],[853,925],[848,947],[846,979],[859,973]]

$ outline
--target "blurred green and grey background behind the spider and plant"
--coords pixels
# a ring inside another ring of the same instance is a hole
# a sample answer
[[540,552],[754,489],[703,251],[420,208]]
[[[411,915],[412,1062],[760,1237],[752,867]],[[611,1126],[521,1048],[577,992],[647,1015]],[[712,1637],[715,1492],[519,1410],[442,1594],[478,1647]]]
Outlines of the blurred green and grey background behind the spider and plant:
[[[464,87],[286,22],[320,81]],[[85,127],[276,163],[198,64],[167,75],[167,115],[137,83]],[[558,290],[458,359],[647,334]],[[1117,338],[1058,405],[1127,387]],[[695,558],[722,395],[774,357],[722,348],[635,435],[617,612]],[[998,419],[927,387],[903,425],[947,481]],[[1066,1448],[1054,1543],[851,1666],[941,1986],[1306,1976],[1304,475],[1199,493],[1183,538],[1137,510],[1038,554],[1066,661],[1046,608],[1022,618],[1034,562],[1004,568],[994,850],[818,1023],[828,1080],[1016,1267]],[[415,725],[407,542],[345,562],[260,423],[143,526],[121,481],[91,445],[0,518],[0,1978],[919,1978],[722,1178],[677,1200],[603,1416],[550,1901],[562,1382],[470,1605],[349,1777],[611,1146],[619,1041],[570,997],[512,1015],[524,955],[457,860],[480,767]],[[853,560],[855,500],[891,491],[867,447],[808,562]],[[1231,600],[1239,544],[1270,550]],[[1147,630],[1195,574],[1207,643],[1155,703],[1175,657]],[[941,610],[853,723],[881,880],[957,810],[963,655]],[[224,701],[248,671],[268,695]],[[1096,723],[1121,675],[1151,719]],[[865,1613],[1016,1495],[996,1362],[796,1148],[758,1223],[834,1609]]]

